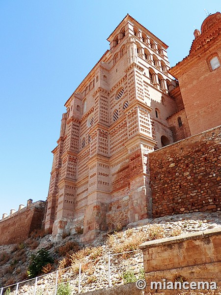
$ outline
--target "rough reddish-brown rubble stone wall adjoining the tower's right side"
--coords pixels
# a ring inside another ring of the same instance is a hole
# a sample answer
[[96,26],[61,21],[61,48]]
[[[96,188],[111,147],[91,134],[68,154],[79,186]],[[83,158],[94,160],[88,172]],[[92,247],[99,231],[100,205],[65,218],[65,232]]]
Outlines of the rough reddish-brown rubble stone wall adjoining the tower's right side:
[[221,126],[148,157],[153,217],[221,210]]

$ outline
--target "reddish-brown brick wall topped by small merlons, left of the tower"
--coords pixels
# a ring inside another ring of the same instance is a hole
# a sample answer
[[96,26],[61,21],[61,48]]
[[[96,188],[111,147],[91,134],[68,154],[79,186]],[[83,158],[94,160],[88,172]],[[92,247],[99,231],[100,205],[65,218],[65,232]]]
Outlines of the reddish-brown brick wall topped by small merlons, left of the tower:
[[0,220],[0,245],[24,241],[35,229],[40,229],[44,217],[45,202],[35,202],[29,207]]

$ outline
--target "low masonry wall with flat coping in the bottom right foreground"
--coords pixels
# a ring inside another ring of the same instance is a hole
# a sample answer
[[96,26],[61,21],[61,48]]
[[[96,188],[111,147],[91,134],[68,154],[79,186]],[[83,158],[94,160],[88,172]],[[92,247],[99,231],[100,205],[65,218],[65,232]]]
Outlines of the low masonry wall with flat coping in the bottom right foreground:
[[[144,242],[140,248],[143,252],[147,283],[145,294],[156,292],[155,289],[151,290],[150,282],[163,283],[163,279],[166,279],[166,282],[174,283],[181,277],[189,284],[216,282],[217,287],[221,287],[221,229],[219,228]],[[161,290],[161,292],[162,295],[181,294],[178,290],[177,293],[171,290]],[[208,294],[207,290],[204,292]],[[220,293],[217,290],[210,294]]]

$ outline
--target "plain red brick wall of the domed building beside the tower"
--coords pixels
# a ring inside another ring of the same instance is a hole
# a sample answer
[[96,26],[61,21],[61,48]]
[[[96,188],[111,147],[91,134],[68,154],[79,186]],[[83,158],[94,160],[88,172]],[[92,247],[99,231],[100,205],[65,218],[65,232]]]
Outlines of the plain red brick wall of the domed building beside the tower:
[[221,124],[221,67],[210,71],[211,53],[221,57],[221,38],[200,57],[193,55],[194,61],[177,76],[191,135]]

